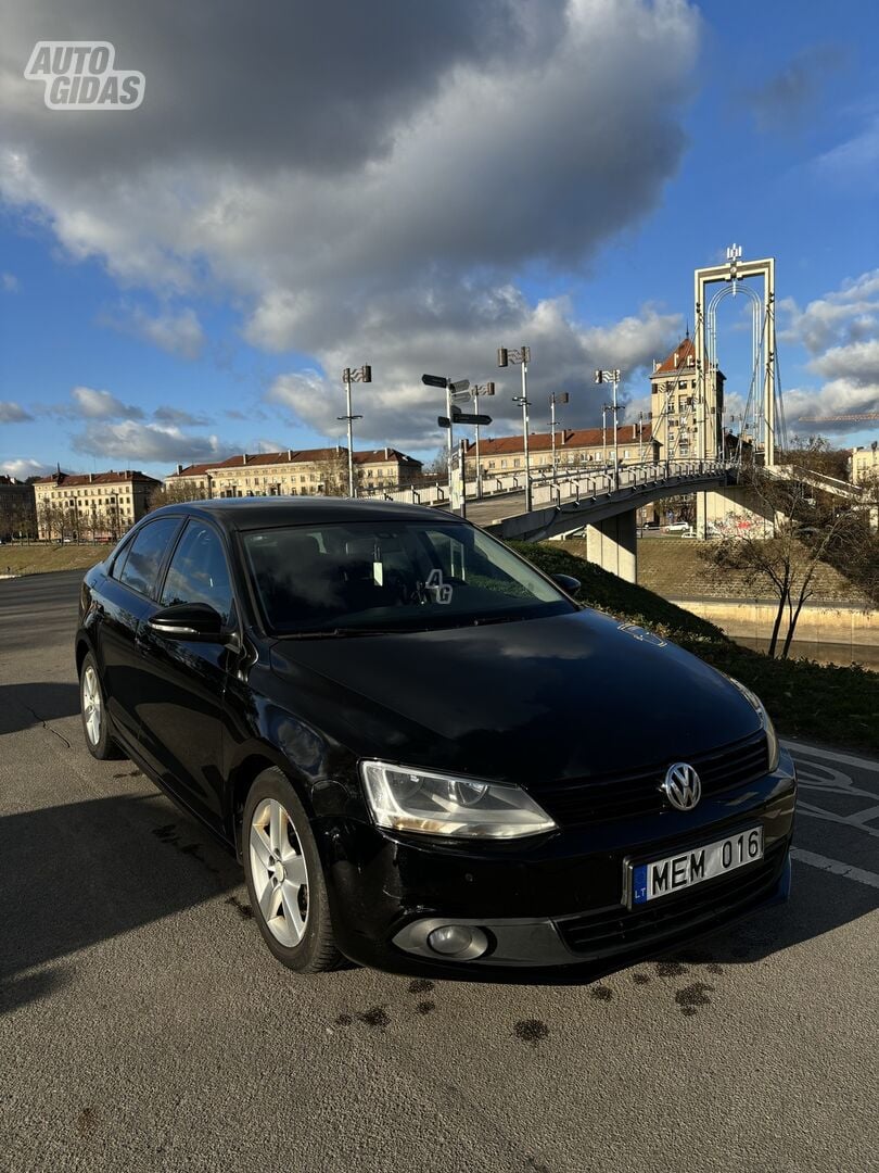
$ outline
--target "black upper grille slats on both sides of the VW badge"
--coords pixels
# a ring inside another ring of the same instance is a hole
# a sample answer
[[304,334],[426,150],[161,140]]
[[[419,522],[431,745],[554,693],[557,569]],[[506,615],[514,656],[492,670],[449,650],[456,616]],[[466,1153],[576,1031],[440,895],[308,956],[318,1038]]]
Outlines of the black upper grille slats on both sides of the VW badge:
[[[710,753],[682,757],[702,781],[703,796],[747,786],[769,771],[766,734],[761,730]],[[574,779],[536,794],[540,806],[560,827],[605,819],[657,814],[669,809],[662,781],[672,761],[659,762],[638,773],[605,774]]]

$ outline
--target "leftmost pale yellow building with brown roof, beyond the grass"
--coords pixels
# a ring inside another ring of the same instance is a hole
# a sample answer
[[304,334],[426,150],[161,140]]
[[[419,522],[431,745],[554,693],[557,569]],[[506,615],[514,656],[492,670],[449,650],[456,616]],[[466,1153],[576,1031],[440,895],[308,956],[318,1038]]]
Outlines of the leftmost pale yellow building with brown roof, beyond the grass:
[[146,513],[154,476],[116,473],[53,473],[34,482],[36,527],[41,538],[113,540]]

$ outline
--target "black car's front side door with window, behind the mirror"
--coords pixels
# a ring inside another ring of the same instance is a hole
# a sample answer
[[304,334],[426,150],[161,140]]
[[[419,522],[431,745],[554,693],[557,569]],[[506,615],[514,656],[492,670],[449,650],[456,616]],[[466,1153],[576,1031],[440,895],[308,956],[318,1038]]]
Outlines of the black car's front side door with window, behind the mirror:
[[141,752],[170,789],[222,828],[224,698],[238,656],[237,617],[223,537],[196,517],[186,522],[159,590],[159,608],[178,603],[210,604],[226,635],[216,643],[180,639],[155,631],[144,616],[137,646],[150,683],[139,708]]

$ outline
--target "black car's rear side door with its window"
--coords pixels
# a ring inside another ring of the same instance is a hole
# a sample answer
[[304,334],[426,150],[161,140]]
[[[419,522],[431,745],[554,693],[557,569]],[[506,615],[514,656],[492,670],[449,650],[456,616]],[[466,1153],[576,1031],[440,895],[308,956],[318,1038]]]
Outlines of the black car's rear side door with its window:
[[145,522],[114,558],[101,586],[98,658],[107,707],[121,740],[137,746],[145,678],[137,635],[155,610],[158,576],[180,517]]

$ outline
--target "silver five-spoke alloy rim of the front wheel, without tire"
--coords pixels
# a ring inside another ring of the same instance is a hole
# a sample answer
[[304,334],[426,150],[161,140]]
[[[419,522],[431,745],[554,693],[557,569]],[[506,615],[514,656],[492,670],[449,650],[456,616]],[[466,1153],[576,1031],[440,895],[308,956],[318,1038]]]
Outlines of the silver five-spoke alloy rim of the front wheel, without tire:
[[298,945],[308,920],[308,869],[293,820],[277,799],[265,799],[253,813],[250,862],[268,929],[282,945]]

